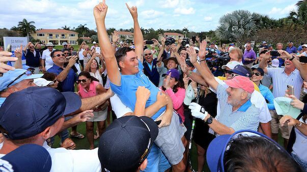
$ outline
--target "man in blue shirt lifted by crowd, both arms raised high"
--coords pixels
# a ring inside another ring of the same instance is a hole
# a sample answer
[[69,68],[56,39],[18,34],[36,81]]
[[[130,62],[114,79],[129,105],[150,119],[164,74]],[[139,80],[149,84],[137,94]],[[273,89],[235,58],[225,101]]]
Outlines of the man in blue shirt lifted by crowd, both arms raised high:
[[[161,92],[159,92],[159,89],[142,72],[144,51],[143,35],[137,21],[137,9],[136,7],[130,8],[127,4],[126,6],[134,22],[135,51],[132,51],[129,47],[123,47],[114,55],[114,50],[109,43],[104,23],[108,8],[105,0],[94,8],[94,16],[97,25],[98,40],[101,43],[101,50],[106,63],[111,89],[120,97],[124,105],[134,111],[136,101],[135,92],[138,86],[145,86],[150,90],[150,97],[146,102],[146,108],[154,104],[157,100],[157,94]],[[168,169],[169,164],[164,155],[173,164],[174,171],[184,171],[183,152],[185,149],[181,138],[185,132],[185,127],[180,126],[178,115],[173,115],[172,102],[169,101],[166,108],[162,107],[157,113],[149,117],[156,121],[161,121],[161,123],[158,125],[160,127],[159,135],[155,141],[156,145],[153,145],[148,156],[148,165],[145,171],[164,171]],[[157,146],[161,148],[164,155]]]

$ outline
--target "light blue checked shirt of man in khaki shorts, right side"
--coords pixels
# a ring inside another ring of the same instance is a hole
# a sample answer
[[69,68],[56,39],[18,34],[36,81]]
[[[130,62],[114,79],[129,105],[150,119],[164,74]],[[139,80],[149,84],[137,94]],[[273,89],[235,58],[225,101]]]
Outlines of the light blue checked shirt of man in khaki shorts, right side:
[[287,85],[292,85],[294,87],[295,97],[299,97],[303,85],[303,79],[297,69],[295,69],[289,76],[285,73],[285,68],[267,67],[267,71],[273,81],[273,95],[275,98],[285,96]]

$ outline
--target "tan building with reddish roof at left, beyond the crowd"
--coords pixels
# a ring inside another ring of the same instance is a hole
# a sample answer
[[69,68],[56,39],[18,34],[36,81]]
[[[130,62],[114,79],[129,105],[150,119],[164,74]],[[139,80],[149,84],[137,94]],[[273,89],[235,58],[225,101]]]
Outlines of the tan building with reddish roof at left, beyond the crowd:
[[47,44],[51,42],[53,45],[62,45],[67,42],[71,45],[77,45],[78,33],[64,29],[40,29],[36,33],[32,33],[34,39],[41,40],[41,43]]

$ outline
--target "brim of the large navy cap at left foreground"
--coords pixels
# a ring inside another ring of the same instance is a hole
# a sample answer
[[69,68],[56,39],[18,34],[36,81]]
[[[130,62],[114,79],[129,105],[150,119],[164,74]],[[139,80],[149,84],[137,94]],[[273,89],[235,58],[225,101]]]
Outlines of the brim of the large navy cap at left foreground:
[[81,107],[81,98],[74,92],[62,92],[66,99],[66,107],[63,115],[71,114]]

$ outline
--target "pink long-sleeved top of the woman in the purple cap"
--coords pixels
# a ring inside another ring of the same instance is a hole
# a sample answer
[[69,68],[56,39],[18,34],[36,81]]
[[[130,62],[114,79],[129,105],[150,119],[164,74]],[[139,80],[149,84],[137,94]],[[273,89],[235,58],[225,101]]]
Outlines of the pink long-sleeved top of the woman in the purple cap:
[[178,114],[182,119],[182,122],[184,122],[185,117],[184,117],[183,100],[185,97],[185,89],[178,87],[178,91],[174,93],[173,89],[169,88],[165,90],[165,92],[171,97],[174,110],[178,112]]

